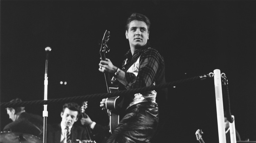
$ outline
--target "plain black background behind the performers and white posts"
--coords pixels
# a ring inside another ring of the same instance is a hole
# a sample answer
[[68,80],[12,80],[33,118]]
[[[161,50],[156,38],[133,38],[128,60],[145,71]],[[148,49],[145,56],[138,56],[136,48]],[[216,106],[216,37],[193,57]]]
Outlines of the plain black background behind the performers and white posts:
[[[120,67],[129,50],[125,21],[133,12],[151,20],[149,41],[164,57],[167,82],[220,69],[228,78],[231,112],[242,140],[256,141],[255,1],[0,1],[0,99],[44,99],[45,47],[48,99],[106,93],[98,71],[99,41],[108,29],[110,58]],[[67,81],[67,85],[60,85]],[[218,142],[213,78],[169,87],[168,122],[159,140]],[[87,114],[103,125],[99,101],[88,101]],[[226,104],[224,103],[224,106]],[[48,105],[48,123],[60,122],[62,104]],[[43,106],[26,107],[42,115]],[[1,131],[11,122],[1,108]]]

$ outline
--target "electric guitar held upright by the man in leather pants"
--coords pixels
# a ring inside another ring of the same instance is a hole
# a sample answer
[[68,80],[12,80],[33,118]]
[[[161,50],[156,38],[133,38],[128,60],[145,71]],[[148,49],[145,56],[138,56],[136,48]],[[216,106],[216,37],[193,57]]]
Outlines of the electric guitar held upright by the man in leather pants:
[[[105,54],[110,51],[109,47],[107,46],[109,37],[110,37],[110,32],[106,30],[101,42],[100,50],[99,50],[102,60],[106,60]],[[111,91],[118,91],[118,87],[109,87],[110,85],[113,85],[113,83],[115,82],[115,78],[112,78],[111,80],[110,75],[108,73],[104,73],[104,76],[105,76],[108,93]],[[119,119],[118,111],[119,109],[121,109],[122,104],[123,104],[123,99],[121,99],[119,96],[106,98],[105,108],[107,109],[108,115],[109,115],[109,120],[110,120],[109,124],[110,124],[111,133],[114,132],[117,125],[119,124],[120,119]]]

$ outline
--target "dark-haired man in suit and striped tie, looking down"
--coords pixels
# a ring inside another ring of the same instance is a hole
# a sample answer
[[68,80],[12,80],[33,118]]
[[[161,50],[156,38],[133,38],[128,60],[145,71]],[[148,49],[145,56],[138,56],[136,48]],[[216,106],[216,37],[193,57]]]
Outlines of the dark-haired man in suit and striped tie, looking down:
[[88,140],[86,129],[74,125],[81,114],[77,103],[65,103],[60,114],[62,120],[59,124],[52,124],[47,130],[48,143],[73,143],[76,139]]

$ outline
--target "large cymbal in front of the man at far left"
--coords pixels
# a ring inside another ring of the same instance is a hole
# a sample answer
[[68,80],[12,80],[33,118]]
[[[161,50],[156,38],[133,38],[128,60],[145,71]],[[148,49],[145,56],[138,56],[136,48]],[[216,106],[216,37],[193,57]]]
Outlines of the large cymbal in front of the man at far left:
[[19,132],[1,132],[1,143],[43,143],[40,137]]

